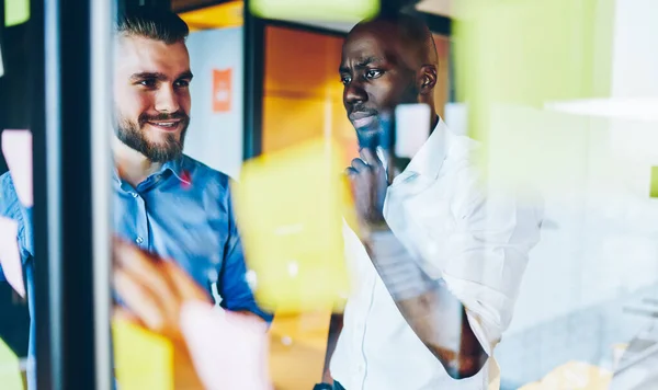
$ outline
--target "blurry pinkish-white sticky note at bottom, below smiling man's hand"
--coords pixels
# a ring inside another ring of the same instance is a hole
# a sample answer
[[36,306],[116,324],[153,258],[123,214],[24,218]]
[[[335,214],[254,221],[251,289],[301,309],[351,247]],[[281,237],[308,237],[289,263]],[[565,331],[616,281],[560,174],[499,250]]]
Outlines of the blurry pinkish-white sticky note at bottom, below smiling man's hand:
[[206,389],[272,389],[262,320],[189,302],[181,312],[181,329]]

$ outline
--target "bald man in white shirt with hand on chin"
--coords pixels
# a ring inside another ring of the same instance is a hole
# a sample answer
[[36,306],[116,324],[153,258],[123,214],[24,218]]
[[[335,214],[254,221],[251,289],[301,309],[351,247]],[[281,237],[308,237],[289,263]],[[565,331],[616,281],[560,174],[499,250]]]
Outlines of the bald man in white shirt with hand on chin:
[[[343,103],[361,159],[348,168],[359,223],[345,228],[354,283],[331,358],[337,389],[499,386],[491,356],[541,213],[485,191],[472,156],[477,142],[436,115],[436,68],[432,35],[411,16],[362,22],[343,44]],[[374,147],[381,118],[401,103],[428,104],[433,131],[396,170],[381,161],[395,158]]]

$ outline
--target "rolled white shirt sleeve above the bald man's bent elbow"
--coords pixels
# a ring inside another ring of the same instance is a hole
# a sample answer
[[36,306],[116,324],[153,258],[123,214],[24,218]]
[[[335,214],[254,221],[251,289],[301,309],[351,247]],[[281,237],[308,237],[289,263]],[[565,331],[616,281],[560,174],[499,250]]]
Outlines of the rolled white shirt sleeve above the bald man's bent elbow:
[[519,188],[486,190],[474,170],[458,175],[442,278],[462,301],[474,334],[491,356],[512,319],[529,261],[540,240],[542,207]]

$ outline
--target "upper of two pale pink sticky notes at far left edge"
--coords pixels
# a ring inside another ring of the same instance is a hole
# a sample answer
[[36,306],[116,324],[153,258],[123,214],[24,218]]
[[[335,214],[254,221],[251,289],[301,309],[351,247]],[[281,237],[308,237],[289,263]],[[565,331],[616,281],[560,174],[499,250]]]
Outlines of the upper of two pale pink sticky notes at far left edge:
[[32,207],[32,133],[30,130],[2,131],[2,154],[16,187],[19,200]]

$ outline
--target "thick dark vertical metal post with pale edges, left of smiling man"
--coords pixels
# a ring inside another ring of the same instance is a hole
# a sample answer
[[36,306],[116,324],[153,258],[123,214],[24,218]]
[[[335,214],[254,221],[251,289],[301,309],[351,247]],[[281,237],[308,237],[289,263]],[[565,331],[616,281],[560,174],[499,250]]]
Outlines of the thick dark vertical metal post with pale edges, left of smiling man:
[[34,1],[32,14],[35,51],[43,48],[32,126],[37,386],[104,390],[113,1]]

